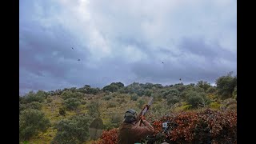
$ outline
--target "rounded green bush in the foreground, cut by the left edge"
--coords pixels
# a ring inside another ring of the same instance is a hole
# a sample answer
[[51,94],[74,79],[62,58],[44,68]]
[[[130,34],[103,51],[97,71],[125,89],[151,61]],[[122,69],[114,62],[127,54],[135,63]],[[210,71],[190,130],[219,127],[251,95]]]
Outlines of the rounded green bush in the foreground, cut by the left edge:
[[19,118],[19,139],[29,140],[39,131],[45,131],[50,126],[50,120],[39,110],[23,110]]

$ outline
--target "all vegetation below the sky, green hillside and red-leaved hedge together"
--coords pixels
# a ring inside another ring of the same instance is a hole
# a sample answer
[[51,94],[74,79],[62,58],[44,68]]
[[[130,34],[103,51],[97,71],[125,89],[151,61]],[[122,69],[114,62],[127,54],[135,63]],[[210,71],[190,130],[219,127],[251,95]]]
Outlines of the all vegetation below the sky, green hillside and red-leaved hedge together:
[[[146,118],[155,127],[154,142],[236,142],[237,77],[162,86],[112,82],[102,89],[89,85],[63,90],[30,91],[19,97],[20,142],[91,143],[90,122],[102,118],[98,143],[115,142],[117,128],[128,108],[141,110],[150,97],[154,104]],[[169,122],[162,129],[162,122]],[[150,142],[144,138],[144,142]]]

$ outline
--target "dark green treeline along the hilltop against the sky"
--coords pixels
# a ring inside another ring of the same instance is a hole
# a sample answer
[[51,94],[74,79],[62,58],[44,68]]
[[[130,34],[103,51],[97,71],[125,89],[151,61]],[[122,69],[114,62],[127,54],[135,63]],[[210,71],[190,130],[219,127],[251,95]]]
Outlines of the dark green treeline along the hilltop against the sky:
[[122,82],[112,82],[108,86],[104,86],[102,89],[94,88],[90,85],[85,85],[80,88],[71,87],[64,88],[58,90],[50,90],[43,91],[38,90],[37,93],[30,91],[28,94],[24,96],[28,96],[31,94],[52,96],[52,95],[61,95],[65,91],[71,91],[73,93],[81,93],[81,94],[100,94],[102,92],[105,93],[120,93],[120,94],[136,94],[138,96],[146,95],[146,96],[162,96],[163,98],[168,97],[182,97],[185,98],[186,94],[189,91],[196,91],[202,94],[218,94],[218,96],[222,98],[236,98],[237,92],[237,76],[232,76],[232,73],[226,74],[222,77],[219,77],[215,80],[216,86],[211,86],[210,82],[206,81],[198,81],[195,83],[190,83],[188,85],[184,85],[182,82],[177,83],[170,86],[162,86],[162,84],[153,84],[150,82],[138,83],[134,82],[128,86],[124,86]]

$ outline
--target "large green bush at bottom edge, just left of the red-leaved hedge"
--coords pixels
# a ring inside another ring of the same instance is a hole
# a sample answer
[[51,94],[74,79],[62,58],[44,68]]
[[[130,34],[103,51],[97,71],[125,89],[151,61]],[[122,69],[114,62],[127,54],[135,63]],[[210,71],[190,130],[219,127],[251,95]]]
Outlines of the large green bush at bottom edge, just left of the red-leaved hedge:
[[59,121],[54,129],[57,129],[57,134],[51,144],[68,143],[82,144],[89,140],[89,126],[92,118],[89,116],[74,116],[70,119]]

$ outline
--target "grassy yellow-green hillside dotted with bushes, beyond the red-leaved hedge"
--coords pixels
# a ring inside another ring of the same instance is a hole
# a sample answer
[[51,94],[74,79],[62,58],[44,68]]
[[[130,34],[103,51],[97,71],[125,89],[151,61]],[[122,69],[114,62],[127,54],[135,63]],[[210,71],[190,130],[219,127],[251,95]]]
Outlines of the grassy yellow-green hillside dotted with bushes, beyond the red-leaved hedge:
[[[127,109],[140,111],[150,97],[154,97],[154,102],[146,119],[152,124],[170,114],[203,110],[217,110],[226,117],[225,111],[236,113],[236,79],[227,74],[216,79],[216,86],[204,81],[170,86],[138,82],[124,86],[122,82],[112,82],[102,89],[85,85],[63,90],[30,91],[19,97],[20,142],[94,142],[88,130],[94,118],[102,118],[104,130],[114,130],[122,122]],[[234,120],[232,125],[235,123],[236,127],[236,118]]]

